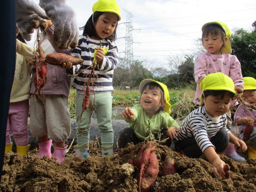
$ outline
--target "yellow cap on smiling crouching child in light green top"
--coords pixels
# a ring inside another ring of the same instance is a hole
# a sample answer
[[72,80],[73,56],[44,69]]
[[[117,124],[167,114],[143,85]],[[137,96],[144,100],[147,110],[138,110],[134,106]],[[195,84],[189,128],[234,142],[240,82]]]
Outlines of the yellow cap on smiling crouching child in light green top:
[[139,90],[140,90],[141,94],[143,93],[144,86],[151,82],[159,84],[160,87],[164,90],[164,99],[166,99],[166,105],[164,105],[164,111],[166,111],[170,115],[171,114],[170,95],[169,95],[168,88],[165,84],[155,81],[155,80],[152,80],[150,78],[145,78],[145,80],[142,80],[141,84],[139,84]]

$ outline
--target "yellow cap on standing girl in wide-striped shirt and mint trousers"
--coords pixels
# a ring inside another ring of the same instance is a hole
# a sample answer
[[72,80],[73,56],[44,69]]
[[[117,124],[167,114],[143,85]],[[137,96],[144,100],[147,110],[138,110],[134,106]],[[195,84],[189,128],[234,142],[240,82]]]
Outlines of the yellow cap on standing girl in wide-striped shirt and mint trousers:
[[92,7],[92,12],[114,12],[118,16],[118,21],[121,20],[120,8],[115,0],[98,0]]

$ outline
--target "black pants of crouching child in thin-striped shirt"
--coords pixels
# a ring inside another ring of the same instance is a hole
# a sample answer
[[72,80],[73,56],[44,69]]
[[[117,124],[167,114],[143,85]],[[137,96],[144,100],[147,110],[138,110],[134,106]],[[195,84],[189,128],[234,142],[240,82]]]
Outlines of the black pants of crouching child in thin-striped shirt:
[[[224,152],[229,143],[229,134],[224,128],[221,128],[214,137],[211,137],[211,143],[215,146],[216,152]],[[175,149],[178,152],[185,153],[189,158],[199,158],[202,155],[202,150],[198,146],[194,137],[188,137],[175,143]]]

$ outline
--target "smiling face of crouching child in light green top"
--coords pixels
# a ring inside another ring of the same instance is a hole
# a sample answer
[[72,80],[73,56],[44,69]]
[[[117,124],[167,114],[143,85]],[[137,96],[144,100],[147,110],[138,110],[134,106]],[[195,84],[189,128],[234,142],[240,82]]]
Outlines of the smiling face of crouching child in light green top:
[[155,89],[148,89],[148,86],[141,95],[141,106],[143,109],[149,112],[157,110],[161,105],[161,89],[155,87]]

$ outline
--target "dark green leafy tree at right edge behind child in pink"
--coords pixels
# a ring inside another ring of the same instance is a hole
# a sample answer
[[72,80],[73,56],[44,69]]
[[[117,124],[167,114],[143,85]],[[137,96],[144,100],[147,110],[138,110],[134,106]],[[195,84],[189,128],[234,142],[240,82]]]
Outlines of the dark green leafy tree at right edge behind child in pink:
[[[254,22],[255,23],[255,22]],[[253,26],[253,24],[252,24]],[[256,31],[239,29],[230,38],[232,55],[241,62],[243,77],[256,78]]]

